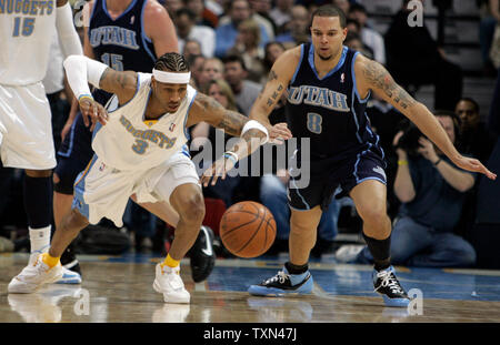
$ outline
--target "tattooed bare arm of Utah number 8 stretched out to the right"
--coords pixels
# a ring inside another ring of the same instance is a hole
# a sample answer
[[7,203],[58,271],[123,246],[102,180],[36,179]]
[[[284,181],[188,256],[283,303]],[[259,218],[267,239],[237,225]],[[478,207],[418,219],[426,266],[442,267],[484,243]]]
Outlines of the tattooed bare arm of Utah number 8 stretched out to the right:
[[412,121],[454,164],[468,171],[483,173],[492,180],[496,179],[496,175],[488,171],[481,162],[462,156],[453,146],[436,116],[426,105],[417,102],[398,85],[380,63],[358,55],[354,62],[354,72],[358,84],[357,91],[362,98],[368,95],[369,90],[372,90]]

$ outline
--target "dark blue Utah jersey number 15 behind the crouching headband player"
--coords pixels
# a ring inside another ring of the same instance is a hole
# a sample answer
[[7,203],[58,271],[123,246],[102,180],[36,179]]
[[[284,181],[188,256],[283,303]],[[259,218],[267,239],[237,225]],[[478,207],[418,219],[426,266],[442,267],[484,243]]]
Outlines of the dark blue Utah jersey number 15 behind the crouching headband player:
[[[133,0],[123,13],[112,20],[106,0],[96,0],[88,32],[96,60],[117,71],[151,73],[157,58],[152,41],[143,30],[142,16],[147,1]],[[99,90],[97,93],[94,98],[102,104],[111,97]]]

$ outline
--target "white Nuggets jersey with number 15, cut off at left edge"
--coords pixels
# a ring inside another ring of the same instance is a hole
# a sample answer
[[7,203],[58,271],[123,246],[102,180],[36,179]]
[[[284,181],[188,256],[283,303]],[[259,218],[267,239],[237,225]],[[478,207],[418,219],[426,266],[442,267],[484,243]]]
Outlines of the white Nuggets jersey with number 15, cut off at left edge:
[[0,1],[0,84],[28,85],[43,79],[56,9],[56,0]]

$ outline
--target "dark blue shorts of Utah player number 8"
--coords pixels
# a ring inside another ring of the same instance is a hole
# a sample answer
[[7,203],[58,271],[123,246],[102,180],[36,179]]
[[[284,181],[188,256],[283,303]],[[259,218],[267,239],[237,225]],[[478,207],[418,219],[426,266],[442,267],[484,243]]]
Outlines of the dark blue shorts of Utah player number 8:
[[[309,184],[301,185],[303,173],[293,176],[290,172],[289,205],[291,209],[299,211],[311,210],[320,205],[321,210],[324,211],[339,185],[342,191],[338,194],[338,197],[349,195],[356,185],[367,180],[377,180],[387,185],[386,165],[383,151],[376,146],[360,151],[348,159],[312,160],[310,162]],[[293,166],[297,166],[297,164]]]

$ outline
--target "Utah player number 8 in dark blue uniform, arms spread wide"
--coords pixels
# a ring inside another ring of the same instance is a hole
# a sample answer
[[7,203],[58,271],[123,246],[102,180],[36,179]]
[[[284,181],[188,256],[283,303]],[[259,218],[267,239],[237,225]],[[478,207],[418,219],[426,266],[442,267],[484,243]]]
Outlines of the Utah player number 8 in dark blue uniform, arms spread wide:
[[251,119],[269,124],[269,113],[288,90],[290,130],[293,136],[309,138],[311,148],[310,152],[303,152],[299,146],[294,159],[310,159],[311,171],[308,186],[298,187],[298,176],[288,186],[289,262],[276,276],[251,285],[249,293],[262,296],[311,293],[309,254],[316,243],[321,212],[340,185],[363,220],[363,236],[374,257],[376,292],[382,294],[389,306],[407,306],[410,300],[390,262],[386,163],[379,138],[371,131],[364,113],[370,94],[376,93],[408,116],[458,166],[490,179],[496,179],[496,174],[478,160],[460,155],[432,113],[401,89],[380,63],[342,44],[347,29],[340,9],[320,7],[313,12],[310,31],[311,43],[288,50],[276,61],[250,114]]

